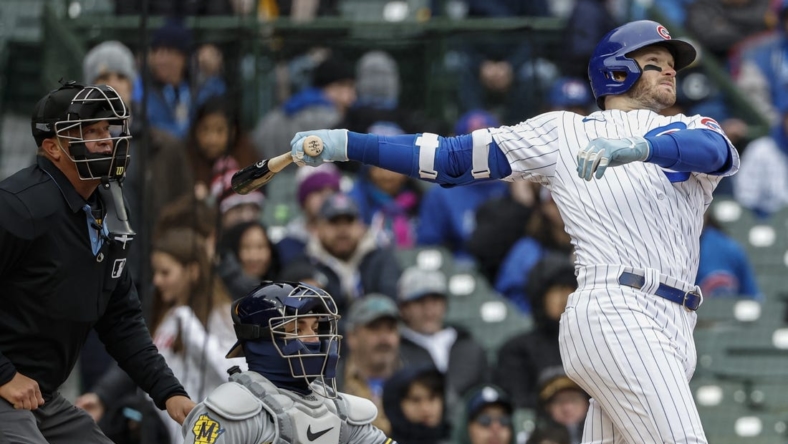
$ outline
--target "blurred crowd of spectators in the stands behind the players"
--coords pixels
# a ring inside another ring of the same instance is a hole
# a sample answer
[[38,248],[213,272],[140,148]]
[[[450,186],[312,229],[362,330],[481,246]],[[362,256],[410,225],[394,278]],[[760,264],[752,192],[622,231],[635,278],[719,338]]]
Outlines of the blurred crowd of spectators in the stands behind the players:
[[[158,8],[151,13],[254,9],[270,19],[332,15],[339,8],[331,1],[252,3],[162,0],[151,2]],[[81,80],[110,85],[131,105],[132,152],[149,142],[148,169],[132,161],[124,183],[131,214],[145,207],[154,221],[150,255],[142,257],[135,246],[129,265],[138,287],[152,289],[148,327],[175,376],[201,400],[227,379],[229,367],[244,365],[224,357],[235,342],[231,302],[263,280],[306,282],[327,290],[342,315],[339,389],[374,401],[375,425],[400,444],[579,443],[589,399],[563,373],[557,339],[577,283],[572,245],[546,189],[504,182],[442,188],[376,167],[334,164],[290,167],[246,195],[230,188],[233,173],[281,154],[298,131],[469,134],[549,109],[593,112],[584,73],[592,43],[643,14],[605,0],[432,3],[432,16],[564,18],[566,55],[533,64],[528,44],[474,40],[447,61],[461,85],[460,117],[440,122],[401,106],[400,66],[386,51],[370,48],[351,60],[315,47],[284,64],[279,105],[245,128],[232,80],[223,77],[222,51],[211,42],[195,44],[182,20],[168,19],[155,30],[145,54],[118,41],[90,49]],[[135,2],[118,5],[119,14],[140,12]],[[788,1],[665,0],[660,7],[768,116],[771,132],[751,140],[747,124],[699,66],[680,76],[677,104],[667,110],[720,122],[742,153],[742,168],[718,193],[769,217],[788,205]],[[140,57],[147,58],[147,84]],[[534,85],[546,86],[529,90]],[[526,105],[534,94],[545,107]],[[150,197],[142,193],[146,182],[156,184]],[[266,206],[281,203],[272,196],[281,196],[276,188],[283,186],[294,187],[290,208],[296,210],[271,227],[263,215]],[[403,252],[430,247],[445,252],[453,269],[403,259]],[[145,266],[151,279],[141,282]],[[483,281],[532,327],[491,350],[476,336],[480,330],[448,322],[452,305],[463,304],[451,285],[457,270]],[[711,215],[697,284],[706,298],[764,298],[744,248]],[[76,405],[115,442],[182,442],[180,427],[139,392],[97,338],[88,341],[73,376]],[[533,430],[515,426],[521,411],[532,412]]]

